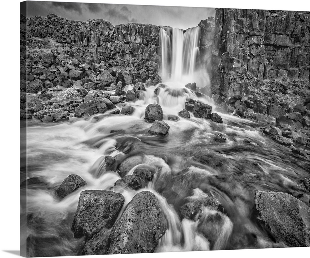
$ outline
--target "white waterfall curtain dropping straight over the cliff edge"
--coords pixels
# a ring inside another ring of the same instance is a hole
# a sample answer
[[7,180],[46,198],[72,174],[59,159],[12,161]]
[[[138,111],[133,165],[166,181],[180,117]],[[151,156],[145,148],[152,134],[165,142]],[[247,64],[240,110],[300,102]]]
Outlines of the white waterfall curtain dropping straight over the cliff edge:
[[162,27],[159,40],[162,53],[161,75],[163,80],[184,83],[185,79],[192,79],[197,69],[200,28],[197,26],[183,30]]

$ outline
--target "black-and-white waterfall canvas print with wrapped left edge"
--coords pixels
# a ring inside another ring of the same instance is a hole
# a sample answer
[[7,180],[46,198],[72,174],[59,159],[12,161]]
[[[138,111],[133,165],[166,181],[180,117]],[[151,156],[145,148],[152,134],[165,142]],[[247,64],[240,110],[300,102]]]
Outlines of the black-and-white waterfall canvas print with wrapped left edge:
[[22,256],[309,247],[309,10],[26,1],[20,67]]

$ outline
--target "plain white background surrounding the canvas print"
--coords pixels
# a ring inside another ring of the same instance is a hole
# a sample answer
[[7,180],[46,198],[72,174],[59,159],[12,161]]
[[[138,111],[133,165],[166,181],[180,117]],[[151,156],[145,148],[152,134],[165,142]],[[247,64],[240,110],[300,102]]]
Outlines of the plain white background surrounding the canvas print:
[[[120,4],[148,4],[164,6],[194,6],[194,7],[225,7],[251,8],[268,10],[310,11],[309,1],[70,1],[66,2],[98,2]],[[0,172],[0,257],[17,257],[7,251],[19,250],[20,244],[20,206],[19,206],[19,159],[20,159],[20,115],[19,115],[19,53],[20,53],[20,1],[2,1],[1,13],[1,73],[0,73],[0,117],[1,117],[1,172]],[[195,15],[194,13],[192,15]],[[187,17],[184,17],[186,19]],[[190,17],[188,17],[190,19]],[[207,19],[204,17],[203,19]],[[15,252],[16,253],[16,252]],[[310,248],[279,248],[229,251],[174,252],[159,254],[140,254],[138,257],[309,257]],[[77,257],[77,256],[69,256]],[[92,256],[98,257],[98,256]],[[108,257],[136,257],[136,255],[115,255]]]

